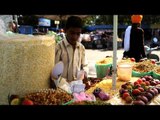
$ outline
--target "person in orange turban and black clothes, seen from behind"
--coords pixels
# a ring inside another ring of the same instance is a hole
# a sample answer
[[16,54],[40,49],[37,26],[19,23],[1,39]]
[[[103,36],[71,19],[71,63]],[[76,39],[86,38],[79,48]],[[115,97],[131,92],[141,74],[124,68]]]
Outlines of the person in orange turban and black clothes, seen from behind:
[[135,58],[136,62],[146,57],[144,49],[144,31],[140,27],[142,15],[132,15],[132,26],[125,31],[123,57]]

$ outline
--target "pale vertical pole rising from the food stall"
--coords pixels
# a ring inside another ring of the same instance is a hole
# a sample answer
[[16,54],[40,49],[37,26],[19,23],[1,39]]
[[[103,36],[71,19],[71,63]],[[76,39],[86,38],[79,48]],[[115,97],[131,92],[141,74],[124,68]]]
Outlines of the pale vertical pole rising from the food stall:
[[112,89],[116,89],[117,80],[117,28],[118,15],[113,15],[113,71],[112,71]]

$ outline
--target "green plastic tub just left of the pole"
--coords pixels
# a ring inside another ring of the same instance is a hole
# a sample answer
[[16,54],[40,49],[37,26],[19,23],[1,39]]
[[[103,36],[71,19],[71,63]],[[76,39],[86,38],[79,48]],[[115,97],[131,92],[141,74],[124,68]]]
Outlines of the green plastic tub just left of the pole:
[[104,78],[106,76],[107,70],[112,66],[112,64],[96,64],[97,78]]

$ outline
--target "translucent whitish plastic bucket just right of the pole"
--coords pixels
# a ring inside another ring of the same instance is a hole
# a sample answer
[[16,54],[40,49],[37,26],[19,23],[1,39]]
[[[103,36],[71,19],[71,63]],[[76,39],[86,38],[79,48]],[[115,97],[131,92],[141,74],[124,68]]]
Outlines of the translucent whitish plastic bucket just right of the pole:
[[132,64],[122,63],[117,68],[118,80],[130,81],[132,77]]

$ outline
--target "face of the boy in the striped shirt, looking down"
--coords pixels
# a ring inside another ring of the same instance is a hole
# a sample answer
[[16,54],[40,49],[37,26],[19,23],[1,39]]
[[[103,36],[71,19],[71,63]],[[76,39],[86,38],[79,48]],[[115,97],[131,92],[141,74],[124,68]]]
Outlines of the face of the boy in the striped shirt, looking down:
[[71,42],[76,42],[78,41],[80,34],[82,32],[81,28],[68,28],[65,30],[66,31],[66,37],[69,41]]

